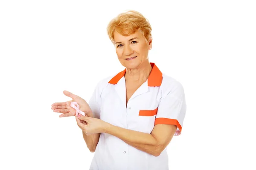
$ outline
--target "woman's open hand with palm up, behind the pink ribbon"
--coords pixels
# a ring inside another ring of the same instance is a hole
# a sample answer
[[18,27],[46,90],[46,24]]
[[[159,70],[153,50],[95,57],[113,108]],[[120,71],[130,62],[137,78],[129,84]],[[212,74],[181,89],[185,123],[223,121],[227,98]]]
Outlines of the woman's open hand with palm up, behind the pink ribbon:
[[[71,97],[73,100],[67,101],[67,102],[58,102],[52,104],[52,110],[53,112],[62,113],[59,115],[59,117],[68,117],[68,116],[75,116],[76,115],[76,109],[72,108],[70,106],[71,102],[77,102],[79,105],[80,111],[83,111],[86,116],[93,117],[92,110],[88,103],[82,99],[81,97],[70,93],[69,91],[63,91],[63,93]],[[79,113],[80,114],[80,113]]]

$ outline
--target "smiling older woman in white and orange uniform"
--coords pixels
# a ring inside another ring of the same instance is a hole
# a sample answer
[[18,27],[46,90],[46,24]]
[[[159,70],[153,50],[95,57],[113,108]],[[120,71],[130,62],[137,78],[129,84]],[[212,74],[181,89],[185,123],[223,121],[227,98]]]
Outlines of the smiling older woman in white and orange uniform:
[[183,86],[148,61],[151,26],[137,11],[119,14],[108,36],[125,70],[102,79],[87,102],[54,103],[60,117],[76,116],[77,102],[86,115],[76,116],[84,141],[95,152],[90,170],[168,170],[166,146],[180,135],[186,113]]

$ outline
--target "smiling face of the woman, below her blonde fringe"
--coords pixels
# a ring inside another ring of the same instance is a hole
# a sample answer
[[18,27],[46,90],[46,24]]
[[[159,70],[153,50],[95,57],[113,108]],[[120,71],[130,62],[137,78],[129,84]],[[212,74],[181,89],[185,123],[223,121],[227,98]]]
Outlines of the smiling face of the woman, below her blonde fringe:
[[152,47],[152,40],[148,42],[141,31],[129,36],[114,32],[116,54],[125,68],[137,68],[148,61],[148,50]]

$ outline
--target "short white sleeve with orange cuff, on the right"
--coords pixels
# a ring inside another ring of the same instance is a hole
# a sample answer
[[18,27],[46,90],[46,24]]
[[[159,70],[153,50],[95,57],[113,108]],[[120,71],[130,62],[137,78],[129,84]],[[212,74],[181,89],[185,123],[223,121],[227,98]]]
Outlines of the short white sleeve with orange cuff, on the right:
[[175,136],[180,135],[186,114],[186,100],[183,86],[178,83],[175,89],[167,91],[157,108],[155,125],[176,125]]

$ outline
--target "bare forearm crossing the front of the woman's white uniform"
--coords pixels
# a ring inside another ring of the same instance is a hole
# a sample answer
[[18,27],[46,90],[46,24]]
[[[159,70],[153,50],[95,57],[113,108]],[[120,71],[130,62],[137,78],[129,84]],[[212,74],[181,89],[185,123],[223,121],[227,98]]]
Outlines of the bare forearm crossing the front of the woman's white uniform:
[[116,136],[125,143],[151,155],[157,155],[157,150],[160,147],[157,139],[149,133],[128,130],[111,124],[106,128],[105,133]]

